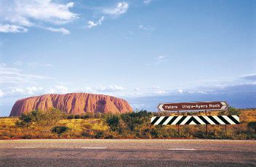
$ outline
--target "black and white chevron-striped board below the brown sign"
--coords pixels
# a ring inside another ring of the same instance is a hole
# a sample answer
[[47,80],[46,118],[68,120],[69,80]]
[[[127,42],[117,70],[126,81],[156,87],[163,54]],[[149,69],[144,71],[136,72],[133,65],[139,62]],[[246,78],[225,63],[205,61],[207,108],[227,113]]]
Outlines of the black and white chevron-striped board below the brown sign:
[[152,125],[236,125],[237,115],[207,115],[207,116],[161,116],[152,117]]

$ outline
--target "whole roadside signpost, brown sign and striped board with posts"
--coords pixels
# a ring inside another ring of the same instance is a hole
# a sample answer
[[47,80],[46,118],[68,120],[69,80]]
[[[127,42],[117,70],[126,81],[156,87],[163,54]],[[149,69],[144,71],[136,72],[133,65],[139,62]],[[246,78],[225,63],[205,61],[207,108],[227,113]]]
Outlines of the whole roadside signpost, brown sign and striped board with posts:
[[[239,124],[237,115],[215,115],[208,116],[207,110],[227,110],[227,102],[176,102],[176,103],[160,103],[157,108],[159,111],[205,111],[206,116],[169,116],[169,117],[153,117],[152,125],[177,125],[180,134],[180,125],[184,124],[203,124],[206,126],[208,135],[208,124],[224,124],[226,133],[226,124]],[[163,119],[163,120],[161,120]]]

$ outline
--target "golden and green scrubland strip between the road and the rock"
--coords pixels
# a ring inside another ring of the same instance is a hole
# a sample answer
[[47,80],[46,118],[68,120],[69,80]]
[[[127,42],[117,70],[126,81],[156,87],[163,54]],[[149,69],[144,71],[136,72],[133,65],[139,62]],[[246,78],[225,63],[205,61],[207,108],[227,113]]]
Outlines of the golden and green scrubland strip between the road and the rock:
[[[35,110],[27,115],[0,118],[0,139],[256,139],[256,110],[212,111],[207,115],[239,115],[241,124],[152,126],[152,116],[177,115],[177,113],[151,113],[136,110],[120,115],[86,113],[65,115],[52,108]],[[180,115],[205,115],[204,112],[185,112]]]

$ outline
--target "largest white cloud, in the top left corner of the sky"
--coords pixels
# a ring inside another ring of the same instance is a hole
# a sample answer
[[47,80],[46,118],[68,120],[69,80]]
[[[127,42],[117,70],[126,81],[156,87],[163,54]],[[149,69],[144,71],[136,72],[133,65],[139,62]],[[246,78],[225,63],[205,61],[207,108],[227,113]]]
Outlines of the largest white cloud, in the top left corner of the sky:
[[78,17],[70,11],[73,2],[61,4],[52,0],[2,0],[0,1],[0,32],[21,33],[37,24],[65,24]]

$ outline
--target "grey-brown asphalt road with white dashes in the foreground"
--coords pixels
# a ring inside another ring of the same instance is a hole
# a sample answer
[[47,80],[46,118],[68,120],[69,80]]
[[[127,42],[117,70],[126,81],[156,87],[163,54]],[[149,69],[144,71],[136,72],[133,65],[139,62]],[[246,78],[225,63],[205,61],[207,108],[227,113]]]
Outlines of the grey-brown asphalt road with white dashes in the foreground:
[[256,166],[256,141],[1,140],[0,166]]

